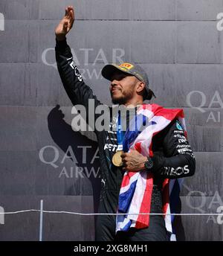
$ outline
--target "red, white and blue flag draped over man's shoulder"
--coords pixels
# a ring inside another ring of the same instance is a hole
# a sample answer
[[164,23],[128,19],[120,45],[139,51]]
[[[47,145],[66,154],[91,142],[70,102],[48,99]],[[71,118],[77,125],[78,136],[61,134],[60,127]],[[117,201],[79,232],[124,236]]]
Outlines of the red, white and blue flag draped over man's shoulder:
[[[143,104],[129,124],[123,139],[123,151],[138,150],[143,156],[153,156],[152,138],[161,132],[174,119],[178,119],[187,136],[183,109],[164,109],[157,104]],[[183,179],[165,179],[163,184],[163,211],[167,231],[171,240],[175,240],[172,229],[176,202]],[[116,232],[128,231],[129,228],[149,226],[149,214],[152,198],[153,175],[148,170],[126,171],[120,187]]]

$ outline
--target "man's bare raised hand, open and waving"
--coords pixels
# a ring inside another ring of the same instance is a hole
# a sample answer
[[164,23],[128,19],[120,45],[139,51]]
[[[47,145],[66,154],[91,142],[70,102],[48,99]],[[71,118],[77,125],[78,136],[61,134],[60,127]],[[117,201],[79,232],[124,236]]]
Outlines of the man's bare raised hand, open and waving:
[[74,25],[74,7],[68,6],[65,8],[65,16],[59,22],[55,29],[56,39],[61,41],[65,39],[66,34],[71,31]]

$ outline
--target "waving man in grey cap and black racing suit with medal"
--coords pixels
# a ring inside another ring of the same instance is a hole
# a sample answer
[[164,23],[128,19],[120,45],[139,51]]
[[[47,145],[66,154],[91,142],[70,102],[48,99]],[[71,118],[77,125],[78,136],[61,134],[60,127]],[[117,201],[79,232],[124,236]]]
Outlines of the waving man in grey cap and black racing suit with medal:
[[[91,99],[94,100],[94,105],[97,107],[102,103],[85,85],[66,42],[65,36],[73,24],[74,8],[68,6],[65,9],[64,18],[55,30],[56,62],[59,74],[65,91],[74,105],[83,104],[88,109],[88,99]],[[143,104],[143,100],[150,100],[154,95],[148,87],[149,82],[145,71],[138,65],[133,63],[106,65],[102,74],[103,77],[111,81],[111,100],[114,104],[122,104],[126,107],[131,105],[137,109],[138,105]],[[131,116],[126,115],[125,118],[129,125]],[[99,212],[105,214],[97,217],[96,240],[169,240],[164,217],[161,215],[151,215],[149,226],[146,228],[129,228],[128,231],[116,232],[116,217],[106,214],[117,213],[124,171],[139,173],[141,170],[152,173],[153,177],[150,213],[162,214],[164,180],[192,176],[195,172],[195,158],[180,122],[174,118],[165,129],[152,137],[153,155],[151,157],[143,156],[138,150],[130,150],[130,152],[121,153],[122,166],[120,167],[116,166],[118,164],[115,161],[112,161],[112,159],[117,160],[114,155],[118,153],[120,131],[103,130],[99,132],[96,130],[95,132],[99,144],[102,176]],[[114,147],[107,147],[107,145],[114,145]],[[114,152],[114,148],[116,152]]]

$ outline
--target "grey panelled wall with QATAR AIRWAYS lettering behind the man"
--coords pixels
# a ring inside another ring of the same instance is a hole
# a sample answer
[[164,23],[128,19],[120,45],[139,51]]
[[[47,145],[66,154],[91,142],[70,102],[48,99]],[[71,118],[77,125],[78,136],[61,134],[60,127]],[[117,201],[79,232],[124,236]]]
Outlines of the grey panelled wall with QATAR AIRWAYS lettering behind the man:
[[[0,205],[4,211],[39,208],[40,199],[49,211],[97,211],[100,173],[97,159],[90,163],[97,150],[95,136],[86,138],[71,130],[71,102],[50,65],[55,63],[54,49],[44,55],[54,48],[54,28],[70,4],[76,7],[77,21],[68,43],[85,69],[85,81],[103,103],[110,102],[108,82],[97,74],[117,51],[124,53],[123,60],[134,60],[146,69],[157,96],[153,102],[184,108],[197,169],[195,176],[185,179],[182,213],[216,213],[223,204],[223,31],[216,28],[222,0],[1,0]],[[88,58],[83,48],[91,48]],[[199,106],[202,100],[200,110],[190,106]],[[64,159],[69,145],[77,164]],[[45,150],[46,161],[54,159],[58,150],[57,167],[40,161],[39,151],[45,146],[54,147]],[[80,146],[91,147],[86,149],[86,161]],[[85,174],[75,166],[85,168]],[[61,175],[64,167],[67,175]],[[88,176],[92,167],[96,178]],[[44,214],[43,220],[43,240],[94,240],[94,217]],[[177,221],[181,240],[223,240],[216,216]],[[39,213],[5,215],[0,240],[38,239]]]

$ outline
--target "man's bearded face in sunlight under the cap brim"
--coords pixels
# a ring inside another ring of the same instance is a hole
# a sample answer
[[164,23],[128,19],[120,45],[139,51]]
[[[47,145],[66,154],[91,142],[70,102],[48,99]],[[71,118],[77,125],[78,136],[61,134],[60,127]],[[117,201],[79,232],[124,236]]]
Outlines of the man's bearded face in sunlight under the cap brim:
[[135,95],[138,78],[133,75],[117,71],[111,77],[111,100],[114,104],[126,104]]

